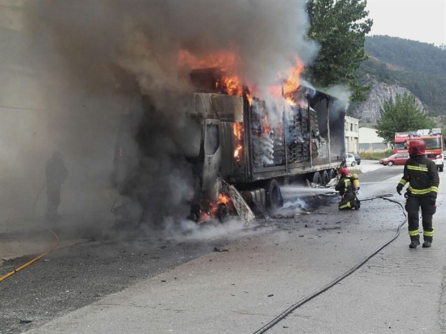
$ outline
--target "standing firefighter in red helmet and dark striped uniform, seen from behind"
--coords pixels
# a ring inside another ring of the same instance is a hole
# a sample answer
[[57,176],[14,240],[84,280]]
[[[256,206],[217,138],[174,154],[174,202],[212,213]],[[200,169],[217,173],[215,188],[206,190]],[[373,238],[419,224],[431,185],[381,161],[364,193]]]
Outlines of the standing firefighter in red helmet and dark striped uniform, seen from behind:
[[436,212],[436,198],[438,193],[438,170],[435,162],[424,156],[426,143],[421,139],[413,139],[409,142],[409,159],[404,165],[401,181],[397,186],[397,192],[401,195],[403,186],[409,184],[404,197],[409,223],[409,248],[417,248],[420,245],[420,232],[418,232],[418,212],[421,207],[423,223],[423,247],[432,246],[433,226],[432,216]]

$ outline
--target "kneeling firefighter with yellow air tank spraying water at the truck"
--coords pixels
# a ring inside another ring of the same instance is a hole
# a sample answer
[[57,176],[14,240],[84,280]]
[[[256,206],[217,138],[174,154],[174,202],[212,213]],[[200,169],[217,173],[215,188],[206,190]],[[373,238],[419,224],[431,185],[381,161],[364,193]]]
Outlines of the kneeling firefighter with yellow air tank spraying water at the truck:
[[360,180],[356,174],[351,175],[348,168],[339,169],[339,182],[336,189],[341,194],[341,202],[339,202],[339,209],[359,209],[361,206],[360,200],[357,199],[356,193],[360,190]]

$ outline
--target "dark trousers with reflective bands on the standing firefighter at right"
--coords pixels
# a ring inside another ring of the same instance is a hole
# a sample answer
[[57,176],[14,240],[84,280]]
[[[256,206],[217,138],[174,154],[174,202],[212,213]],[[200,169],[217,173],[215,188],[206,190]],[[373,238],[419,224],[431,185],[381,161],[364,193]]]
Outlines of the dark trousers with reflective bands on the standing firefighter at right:
[[421,207],[423,238],[424,241],[432,241],[433,226],[432,216],[436,212],[435,205],[431,205],[430,196],[408,196],[406,200],[406,211],[409,224],[410,240],[420,240],[420,232],[418,232],[418,219]]

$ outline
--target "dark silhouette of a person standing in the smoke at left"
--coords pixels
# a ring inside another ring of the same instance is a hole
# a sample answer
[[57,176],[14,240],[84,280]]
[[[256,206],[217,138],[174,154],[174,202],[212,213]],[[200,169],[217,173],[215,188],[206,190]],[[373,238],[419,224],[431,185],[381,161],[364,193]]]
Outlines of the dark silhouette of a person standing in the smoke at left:
[[61,203],[61,186],[68,177],[68,170],[63,164],[62,156],[59,152],[54,152],[52,158],[45,166],[45,176],[47,177],[47,208],[45,218],[56,218],[57,208]]

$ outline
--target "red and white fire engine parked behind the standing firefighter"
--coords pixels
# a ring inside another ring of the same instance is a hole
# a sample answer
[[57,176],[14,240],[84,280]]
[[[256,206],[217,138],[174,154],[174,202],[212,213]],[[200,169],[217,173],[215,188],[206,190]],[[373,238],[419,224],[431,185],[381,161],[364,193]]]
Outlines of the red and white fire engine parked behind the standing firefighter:
[[408,147],[406,143],[410,139],[422,139],[426,143],[426,157],[435,161],[438,170],[443,172],[443,135],[441,129],[421,129],[416,132],[397,132],[395,134],[393,152],[406,153]]

